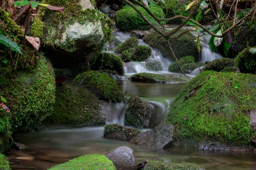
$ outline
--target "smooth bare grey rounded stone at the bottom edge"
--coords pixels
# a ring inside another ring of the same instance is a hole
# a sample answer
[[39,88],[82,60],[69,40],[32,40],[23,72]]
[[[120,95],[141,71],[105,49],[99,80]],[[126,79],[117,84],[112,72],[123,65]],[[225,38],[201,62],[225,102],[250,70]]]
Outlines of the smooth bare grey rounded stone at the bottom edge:
[[116,170],[136,170],[137,162],[130,147],[121,146],[105,153],[116,167]]

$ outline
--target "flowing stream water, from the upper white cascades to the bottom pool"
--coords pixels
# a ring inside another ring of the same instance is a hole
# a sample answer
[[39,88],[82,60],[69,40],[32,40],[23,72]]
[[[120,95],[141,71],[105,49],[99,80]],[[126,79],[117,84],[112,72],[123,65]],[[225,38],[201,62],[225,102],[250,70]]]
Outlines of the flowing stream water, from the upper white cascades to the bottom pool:
[[[122,42],[130,37],[129,33],[115,32],[114,36]],[[208,37],[207,37],[208,38]],[[221,58],[217,53],[212,53],[207,45],[207,38],[202,44],[201,60],[213,60]],[[146,45],[142,40],[140,45]],[[162,71],[148,71],[143,63],[125,63],[125,75],[116,80],[119,89],[126,97],[140,96],[147,100],[152,109],[152,116],[148,129],[163,122],[169,110],[169,105],[175,96],[184,87],[179,84],[157,84],[132,82],[129,76],[138,72],[152,72],[157,74],[174,74],[168,72],[171,60],[163,58],[161,53],[152,49],[150,59],[160,60],[163,63]],[[195,69],[189,75],[194,77],[199,73]],[[182,74],[175,74],[184,77]],[[184,77],[185,78],[185,77]],[[109,104],[106,106],[106,123],[124,124],[124,113],[127,106],[122,103]],[[10,167],[13,170],[47,170],[48,168],[69,161],[72,158],[88,153],[105,153],[119,146],[128,146],[134,150],[138,163],[152,160],[157,157],[166,157],[177,163],[193,163],[206,170],[256,170],[256,153],[249,151],[215,151],[198,150],[186,147],[170,147],[166,149],[147,148],[126,141],[103,138],[103,126],[81,127],[73,129],[49,130],[40,132],[18,133],[13,136],[14,142],[29,146],[29,150],[12,149],[8,156]]]

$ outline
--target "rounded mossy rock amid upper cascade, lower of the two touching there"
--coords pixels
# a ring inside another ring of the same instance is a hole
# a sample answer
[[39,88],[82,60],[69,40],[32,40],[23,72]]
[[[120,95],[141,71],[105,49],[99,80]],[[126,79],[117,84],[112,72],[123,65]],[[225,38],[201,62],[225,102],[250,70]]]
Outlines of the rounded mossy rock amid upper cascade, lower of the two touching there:
[[137,45],[134,48],[129,48],[121,53],[121,58],[124,62],[143,61],[151,56],[152,50],[145,45]]

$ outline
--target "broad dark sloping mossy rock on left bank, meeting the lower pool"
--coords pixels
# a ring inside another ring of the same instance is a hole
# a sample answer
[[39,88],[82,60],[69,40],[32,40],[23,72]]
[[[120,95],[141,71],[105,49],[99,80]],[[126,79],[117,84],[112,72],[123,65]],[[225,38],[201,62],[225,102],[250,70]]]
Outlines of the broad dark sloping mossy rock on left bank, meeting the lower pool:
[[56,99],[51,116],[53,123],[104,125],[100,102],[94,94],[73,85],[57,85]]

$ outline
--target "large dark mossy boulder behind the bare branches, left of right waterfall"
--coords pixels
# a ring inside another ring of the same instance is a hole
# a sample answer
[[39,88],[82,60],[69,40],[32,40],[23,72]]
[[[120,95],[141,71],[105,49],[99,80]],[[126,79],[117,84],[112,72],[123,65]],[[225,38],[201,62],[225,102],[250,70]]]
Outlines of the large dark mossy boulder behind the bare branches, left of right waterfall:
[[[177,35],[181,34],[185,30],[180,29],[172,35],[171,37],[174,38]],[[196,42],[194,41],[195,36],[191,34],[190,32],[182,35],[179,38],[169,39],[169,42],[172,46],[172,50],[174,51],[177,59],[180,59],[184,56],[193,56],[196,61],[199,60],[199,53],[196,48]],[[172,51],[169,47],[169,44],[166,39],[164,39],[159,33],[154,31],[153,28],[151,28],[148,32],[148,34],[145,35],[143,38],[143,41],[145,41],[148,45],[150,45],[153,48],[157,48],[160,50],[163,54],[163,57],[169,57],[174,59]]]

